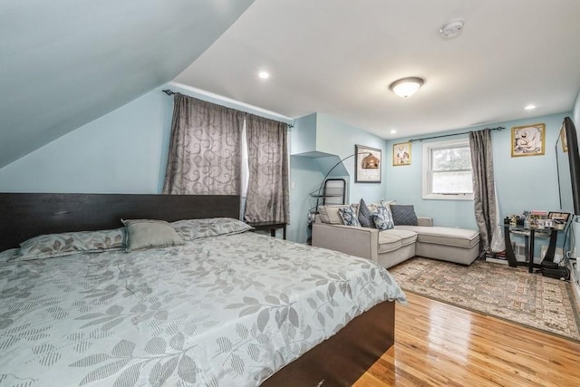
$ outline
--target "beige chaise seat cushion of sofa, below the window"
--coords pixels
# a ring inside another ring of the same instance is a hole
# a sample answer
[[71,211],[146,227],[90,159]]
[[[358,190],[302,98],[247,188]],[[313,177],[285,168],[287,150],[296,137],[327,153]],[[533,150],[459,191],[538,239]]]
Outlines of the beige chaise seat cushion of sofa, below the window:
[[471,248],[479,242],[479,231],[467,228],[395,226],[395,229],[416,232],[420,243]]

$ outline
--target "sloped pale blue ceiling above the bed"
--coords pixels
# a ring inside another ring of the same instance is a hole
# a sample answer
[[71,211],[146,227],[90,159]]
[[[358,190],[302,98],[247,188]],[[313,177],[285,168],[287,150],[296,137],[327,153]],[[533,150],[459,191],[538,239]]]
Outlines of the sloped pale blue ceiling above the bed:
[[169,82],[253,0],[3,0],[0,168]]

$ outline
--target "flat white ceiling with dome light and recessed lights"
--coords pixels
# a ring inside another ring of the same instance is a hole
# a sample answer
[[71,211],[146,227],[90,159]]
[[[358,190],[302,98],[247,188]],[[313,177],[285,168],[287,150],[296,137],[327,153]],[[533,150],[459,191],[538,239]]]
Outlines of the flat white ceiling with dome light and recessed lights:
[[[457,18],[463,34],[441,38]],[[388,87],[406,76],[425,84],[401,99]],[[387,139],[571,111],[580,1],[256,0],[174,81]]]

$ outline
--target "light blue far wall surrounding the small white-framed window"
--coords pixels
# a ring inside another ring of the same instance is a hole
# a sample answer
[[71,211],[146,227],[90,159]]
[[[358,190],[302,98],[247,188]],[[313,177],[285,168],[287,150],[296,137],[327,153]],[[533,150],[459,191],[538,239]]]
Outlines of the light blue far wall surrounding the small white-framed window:
[[[491,134],[501,216],[520,214],[526,209],[557,210],[559,200],[555,146],[565,115],[562,113],[526,120],[498,122],[437,134],[478,131],[485,127],[505,127],[505,130],[492,131]],[[544,156],[512,158],[511,128],[533,123],[546,123],[546,154]],[[467,138],[467,135],[440,140],[460,138]],[[389,160],[392,158],[392,145],[406,140],[409,139],[388,142]],[[428,141],[436,140],[423,142]],[[473,214],[473,201],[424,200],[421,198],[422,162],[422,142],[415,141],[412,143],[410,166],[393,167],[392,163],[384,164],[387,167],[389,181],[396,182],[387,185],[387,198],[396,199],[399,204],[413,204],[418,215],[434,218],[436,226],[477,228]]]

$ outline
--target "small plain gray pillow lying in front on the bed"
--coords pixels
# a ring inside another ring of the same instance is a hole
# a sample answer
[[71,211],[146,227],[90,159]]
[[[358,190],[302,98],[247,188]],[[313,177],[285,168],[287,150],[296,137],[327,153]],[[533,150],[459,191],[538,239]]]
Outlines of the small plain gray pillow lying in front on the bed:
[[121,219],[127,229],[127,251],[183,245],[183,238],[165,220]]

